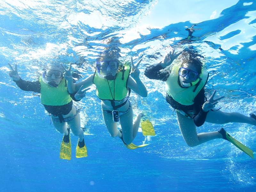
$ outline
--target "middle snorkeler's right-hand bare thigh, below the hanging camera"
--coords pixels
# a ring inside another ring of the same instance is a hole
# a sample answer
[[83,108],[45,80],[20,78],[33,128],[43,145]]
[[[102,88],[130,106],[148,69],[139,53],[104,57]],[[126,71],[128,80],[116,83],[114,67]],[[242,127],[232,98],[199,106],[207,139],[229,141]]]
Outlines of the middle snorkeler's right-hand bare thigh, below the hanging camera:
[[124,140],[133,140],[133,112],[132,107],[122,116],[119,116]]

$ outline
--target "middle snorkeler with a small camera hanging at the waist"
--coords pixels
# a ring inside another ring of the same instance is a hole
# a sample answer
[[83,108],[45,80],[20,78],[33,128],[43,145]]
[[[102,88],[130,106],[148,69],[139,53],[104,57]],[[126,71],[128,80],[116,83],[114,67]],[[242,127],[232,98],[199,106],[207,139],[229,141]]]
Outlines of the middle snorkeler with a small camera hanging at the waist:
[[[130,149],[146,146],[132,144],[140,125],[143,113],[140,113],[133,120],[131,102],[128,100],[131,89],[142,97],[147,97],[148,92],[140,81],[140,71],[137,65],[132,62],[132,69],[129,65],[121,65],[119,53],[116,50],[104,51],[96,62],[95,73],[85,80],[74,84],[71,72],[66,72],[64,78],[68,80],[68,91],[77,92],[79,89],[95,84],[96,95],[101,100],[102,115],[108,132],[112,137],[119,137],[125,146]],[[132,71],[130,73],[130,71]],[[127,96],[128,93],[128,97]],[[121,130],[117,129],[117,122],[121,124]]]

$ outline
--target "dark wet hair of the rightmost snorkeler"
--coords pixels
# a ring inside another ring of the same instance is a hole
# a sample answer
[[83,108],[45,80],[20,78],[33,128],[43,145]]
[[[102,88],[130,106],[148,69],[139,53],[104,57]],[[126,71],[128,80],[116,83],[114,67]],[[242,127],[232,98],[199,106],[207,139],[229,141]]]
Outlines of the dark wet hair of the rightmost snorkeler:
[[201,74],[203,63],[200,61],[200,58],[204,58],[202,55],[199,55],[195,50],[185,50],[181,53],[180,58],[180,67],[183,67],[185,63],[190,63],[196,68],[198,74]]

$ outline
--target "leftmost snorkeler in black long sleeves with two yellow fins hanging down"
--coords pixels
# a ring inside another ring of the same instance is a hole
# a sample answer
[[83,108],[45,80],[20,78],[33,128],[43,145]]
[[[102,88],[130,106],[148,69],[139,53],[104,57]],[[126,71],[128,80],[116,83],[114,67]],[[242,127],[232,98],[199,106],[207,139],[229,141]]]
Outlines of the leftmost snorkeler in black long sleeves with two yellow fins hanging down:
[[[70,94],[67,89],[67,82],[63,78],[63,69],[60,65],[48,65],[38,81],[24,81],[17,71],[10,65],[10,77],[24,91],[41,93],[41,103],[48,113],[54,127],[58,132],[64,133],[60,147],[60,158],[71,159],[70,128],[74,135],[78,136],[76,146],[76,157],[86,157],[87,149],[84,143],[84,132],[80,126],[79,111],[73,105],[73,100],[80,100],[80,90]],[[69,128],[67,128],[67,125]]]

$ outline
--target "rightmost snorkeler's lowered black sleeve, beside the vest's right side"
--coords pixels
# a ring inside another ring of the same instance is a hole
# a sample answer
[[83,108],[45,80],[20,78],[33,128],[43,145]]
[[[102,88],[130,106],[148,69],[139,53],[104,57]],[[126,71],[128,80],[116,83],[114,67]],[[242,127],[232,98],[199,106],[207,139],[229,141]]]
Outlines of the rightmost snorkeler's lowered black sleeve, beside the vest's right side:
[[196,124],[197,127],[200,127],[204,124],[207,113],[204,112],[202,109],[202,106],[205,101],[204,96],[204,88],[196,95],[196,98],[194,100],[194,116],[193,121]]

